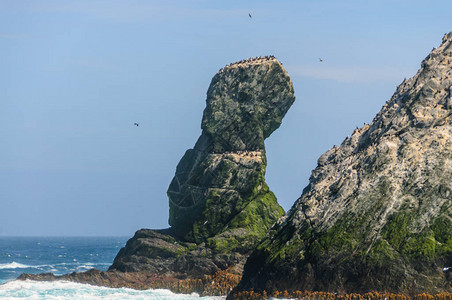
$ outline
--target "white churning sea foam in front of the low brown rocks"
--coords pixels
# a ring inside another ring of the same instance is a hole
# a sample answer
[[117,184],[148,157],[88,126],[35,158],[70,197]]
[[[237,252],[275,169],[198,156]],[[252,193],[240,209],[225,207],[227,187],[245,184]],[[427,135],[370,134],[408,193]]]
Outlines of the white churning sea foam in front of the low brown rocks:
[[148,299],[148,300],[219,300],[225,297],[200,297],[197,294],[174,294],[168,290],[137,291],[127,288],[114,289],[67,281],[37,282],[10,281],[0,285],[1,299]]

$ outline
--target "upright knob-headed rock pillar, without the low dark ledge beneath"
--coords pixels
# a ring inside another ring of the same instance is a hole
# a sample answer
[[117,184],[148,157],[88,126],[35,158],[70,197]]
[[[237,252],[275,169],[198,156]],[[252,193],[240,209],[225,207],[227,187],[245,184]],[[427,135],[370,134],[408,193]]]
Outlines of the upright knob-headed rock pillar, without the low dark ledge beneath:
[[231,64],[214,76],[202,134],[168,189],[176,235],[197,243],[236,228],[261,235],[277,220],[282,209],[265,184],[264,139],[294,99],[290,77],[273,57]]

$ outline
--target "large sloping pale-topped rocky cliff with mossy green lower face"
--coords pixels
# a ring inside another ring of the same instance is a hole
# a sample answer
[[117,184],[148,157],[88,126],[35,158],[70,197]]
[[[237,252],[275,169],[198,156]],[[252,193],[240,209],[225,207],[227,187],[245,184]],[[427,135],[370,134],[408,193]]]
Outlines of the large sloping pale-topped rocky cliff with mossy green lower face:
[[238,290],[452,291],[452,33],[318,159]]

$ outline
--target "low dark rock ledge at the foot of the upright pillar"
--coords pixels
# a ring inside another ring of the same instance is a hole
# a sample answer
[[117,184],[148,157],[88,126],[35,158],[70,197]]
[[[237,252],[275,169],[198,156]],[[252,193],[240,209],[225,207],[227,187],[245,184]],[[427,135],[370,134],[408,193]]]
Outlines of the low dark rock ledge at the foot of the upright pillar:
[[201,278],[231,267],[241,274],[247,252],[215,252],[205,243],[182,242],[171,229],[141,229],[120,250],[110,271],[147,272],[173,278]]

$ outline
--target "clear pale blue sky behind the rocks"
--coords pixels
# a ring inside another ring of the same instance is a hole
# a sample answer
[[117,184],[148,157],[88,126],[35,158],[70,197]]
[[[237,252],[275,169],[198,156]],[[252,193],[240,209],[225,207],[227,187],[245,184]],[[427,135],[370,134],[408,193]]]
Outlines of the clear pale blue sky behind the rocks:
[[212,77],[263,55],[295,89],[266,140],[266,181],[288,210],[451,20],[451,1],[0,0],[0,236],[168,227],[166,190]]

